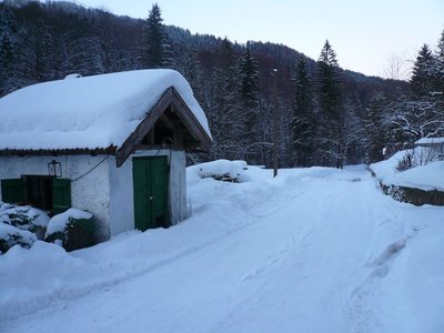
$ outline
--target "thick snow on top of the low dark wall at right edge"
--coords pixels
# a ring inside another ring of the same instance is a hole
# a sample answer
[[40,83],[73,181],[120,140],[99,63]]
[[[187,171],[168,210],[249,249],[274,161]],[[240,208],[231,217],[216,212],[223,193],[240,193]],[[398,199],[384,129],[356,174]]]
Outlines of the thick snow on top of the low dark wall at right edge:
[[400,162],[407,154],[412,154],[412,150],[400,151],[386,161],[371,164],[370,169],[387,186],[395,185],[423,191],[444,191],[444,161],[431,162],[426,165],[415,167],[402,172],[397,170]]

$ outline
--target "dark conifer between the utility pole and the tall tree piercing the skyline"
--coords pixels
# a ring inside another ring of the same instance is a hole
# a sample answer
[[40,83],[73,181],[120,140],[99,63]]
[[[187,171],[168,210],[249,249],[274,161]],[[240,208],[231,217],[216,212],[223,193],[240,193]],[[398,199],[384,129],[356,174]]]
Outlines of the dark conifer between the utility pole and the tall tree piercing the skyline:
[[310,167],[314,163],[316,119],[313,94],[306,62],[301,57],[292,78],[294,93],[291,121],[291,154],[294,167]]

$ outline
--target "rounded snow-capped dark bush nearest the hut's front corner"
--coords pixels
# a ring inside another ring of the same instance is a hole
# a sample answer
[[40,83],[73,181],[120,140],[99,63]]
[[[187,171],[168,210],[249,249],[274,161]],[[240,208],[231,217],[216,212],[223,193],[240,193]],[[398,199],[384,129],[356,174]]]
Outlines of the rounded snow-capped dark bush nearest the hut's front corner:
[[48,224],[44,241],[63,246],[67,251],[94,244],[92,214],[78,209],[54,215]]

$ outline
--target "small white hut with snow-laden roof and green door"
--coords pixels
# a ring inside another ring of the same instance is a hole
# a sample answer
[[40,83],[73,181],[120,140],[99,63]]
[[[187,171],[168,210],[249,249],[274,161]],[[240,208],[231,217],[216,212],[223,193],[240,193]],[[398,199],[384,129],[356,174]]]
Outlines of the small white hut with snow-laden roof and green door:
[[39,83],[0,99],[0,200],[98,221],[99,238],[186,218],[185,151],[211,133],[172,70]]

